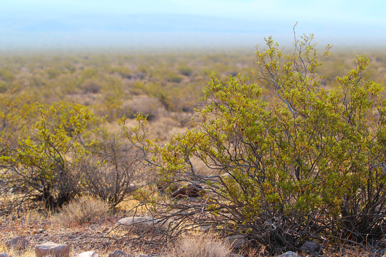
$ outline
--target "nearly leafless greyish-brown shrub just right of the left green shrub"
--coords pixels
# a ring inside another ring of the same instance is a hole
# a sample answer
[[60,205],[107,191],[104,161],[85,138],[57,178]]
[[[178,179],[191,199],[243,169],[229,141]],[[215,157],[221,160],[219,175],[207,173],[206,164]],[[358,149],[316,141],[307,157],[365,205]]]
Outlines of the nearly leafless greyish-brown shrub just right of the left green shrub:
[[83,183],[94,198],[115,207],[140,185],[146,184],[137,148],[111,137],[96,144],[90,152],[91,157],[82,166]]

